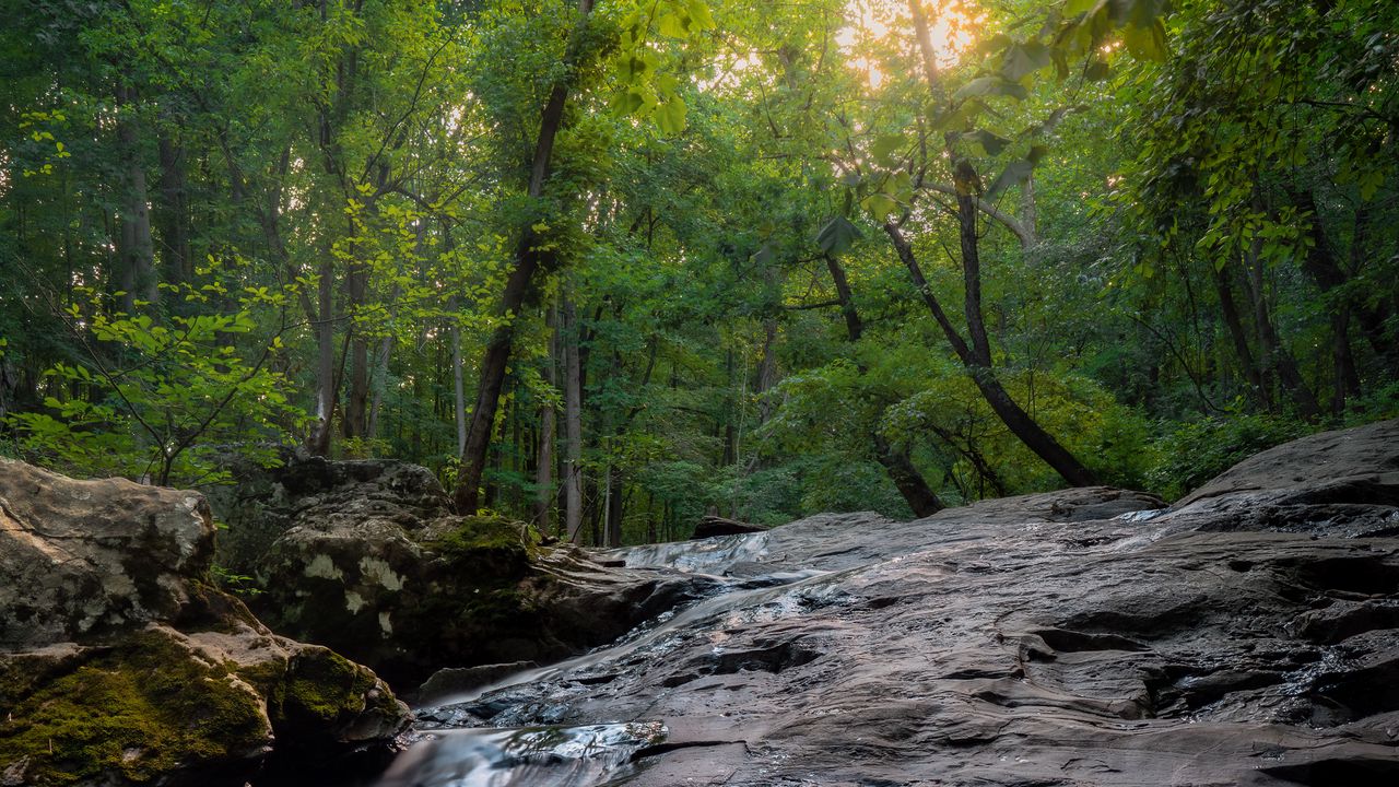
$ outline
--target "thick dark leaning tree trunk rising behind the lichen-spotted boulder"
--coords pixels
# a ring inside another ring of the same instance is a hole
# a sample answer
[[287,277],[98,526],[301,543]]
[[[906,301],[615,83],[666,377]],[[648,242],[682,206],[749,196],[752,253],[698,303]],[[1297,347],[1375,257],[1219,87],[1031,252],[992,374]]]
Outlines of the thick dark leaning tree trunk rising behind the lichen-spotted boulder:
[[[588,15],[592,11],[593,0],[578,1],[578,27],[569,41],[569,52],[565,55],[565,66],[574,66],[578,59],[578,49],[582,41],[583,28],[588,25]],[[562,81],[554,84],[544,105],[544,112],[539,125],[539,140],[534,144],[534,160],[530,165],[529,196],[537,200],[544,195],[544,181],[548,178],[550,161],[554,154],[554,137],[558,136],[564,125],[564,105],[568,101],[568,85]],[[499,326],[491,333],[481,358],[481,379],[477,385],[476,409],[471,412],[471,426],[467,430],[466,451],[462,452],[462,471],[453,494],[453,503],[459,514],[474,514],[478,506],[481,473],[485,469],[485,455],[491,444],[491,433],[495,424],[495,410],[501,401],[501,388],[505,384],[505,364],[509,361],[511,349],[515,343],[515,322],[520,316],[520,307],[530,293],[530,283],[541,262],[553,260],[553,251],[544,251],[539,234],[533,225],[526,225],[520,231],[519,245],[515,249],[515,266],[505,281],[505,291],[501,294],[501,304],[497,314],[501,318]],[[547,260],[546,260],[547,258]]]

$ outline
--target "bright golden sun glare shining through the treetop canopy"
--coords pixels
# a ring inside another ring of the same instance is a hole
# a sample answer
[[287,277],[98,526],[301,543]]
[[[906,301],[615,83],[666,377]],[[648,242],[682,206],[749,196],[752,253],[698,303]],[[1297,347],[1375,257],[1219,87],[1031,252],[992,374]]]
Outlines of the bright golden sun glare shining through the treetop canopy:
[[[923,4],[939,69],[956,66],[975,43],[977,31],[986,14],[971,0],[918,0]],[[849,0],[845,6],[846,27],[835,42],[849,57],[852,69],[865,74],[870,88],[879,90],[887,74],[879,50],[898,46],[900,39],[912,45],[914,20],[904,0]]]

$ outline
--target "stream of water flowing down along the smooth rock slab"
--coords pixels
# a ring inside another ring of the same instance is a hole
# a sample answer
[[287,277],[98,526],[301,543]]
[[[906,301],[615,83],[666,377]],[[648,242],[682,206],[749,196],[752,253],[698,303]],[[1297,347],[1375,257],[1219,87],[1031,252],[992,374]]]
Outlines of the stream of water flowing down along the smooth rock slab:
[[[687,570],[754,560],[762,550],[751,536],[667,545],[666,555],[624,557],[628,564],[672,562]],[[686,559],[688,556],[688,560]],[[418,710],[420,742],[409,748],[376,787],[599,787],[623,784],[635,760],[665,742],[660,721],[578,724],[582,700],[628,665],[665,658],[697,636],[722,653],[722,630],[762,619],[841,604],[837,574],[783,571],[741,580],[719,578],[719,592],[639,626],[611,646],[576,658],[512,675],[478,690]],[[569,724],[572,721],[572,724]]]

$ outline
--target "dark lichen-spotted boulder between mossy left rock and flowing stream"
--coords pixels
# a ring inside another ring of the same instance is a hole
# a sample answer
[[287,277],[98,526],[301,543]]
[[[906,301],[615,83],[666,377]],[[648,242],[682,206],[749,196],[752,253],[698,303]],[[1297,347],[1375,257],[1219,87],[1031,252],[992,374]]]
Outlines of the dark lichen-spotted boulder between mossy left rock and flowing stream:
[[291,462],[256,563],[274,630],[416,686],[439,668],[550,661],[611,641],[693,599],[706,577],[616,569],[546,548],[495,517],[456,517],[427,469],[393,461]]

